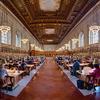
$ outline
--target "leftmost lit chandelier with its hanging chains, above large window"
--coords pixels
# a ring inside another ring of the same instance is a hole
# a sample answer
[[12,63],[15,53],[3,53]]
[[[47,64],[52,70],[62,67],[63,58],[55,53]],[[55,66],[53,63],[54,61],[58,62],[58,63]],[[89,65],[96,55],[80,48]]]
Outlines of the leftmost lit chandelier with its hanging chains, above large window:
[[8,17],[7,13],[5,11],[2,11],[1,15],[1,25],[0,25],[0,31],[1,33],[7,33],[11,30],[11,27],[8,24]]

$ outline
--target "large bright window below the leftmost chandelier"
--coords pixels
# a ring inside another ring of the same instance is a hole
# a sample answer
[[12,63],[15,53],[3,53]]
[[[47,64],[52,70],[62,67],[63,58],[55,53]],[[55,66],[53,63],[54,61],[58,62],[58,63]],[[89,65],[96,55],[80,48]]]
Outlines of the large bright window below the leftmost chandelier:
[[11,44],[11,31],[1,32],[1,43]]

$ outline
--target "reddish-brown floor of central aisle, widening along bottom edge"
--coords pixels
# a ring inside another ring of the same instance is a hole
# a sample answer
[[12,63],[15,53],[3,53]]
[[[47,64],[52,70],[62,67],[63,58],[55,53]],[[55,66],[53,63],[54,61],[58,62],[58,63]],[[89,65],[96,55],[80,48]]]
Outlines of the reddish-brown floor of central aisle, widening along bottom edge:
[[61,74],[54,60],[47,58],[38,77],[32,79],[18,97],[4,95],[0,100],[100,100],[96,95],[84,97],[70,80]]

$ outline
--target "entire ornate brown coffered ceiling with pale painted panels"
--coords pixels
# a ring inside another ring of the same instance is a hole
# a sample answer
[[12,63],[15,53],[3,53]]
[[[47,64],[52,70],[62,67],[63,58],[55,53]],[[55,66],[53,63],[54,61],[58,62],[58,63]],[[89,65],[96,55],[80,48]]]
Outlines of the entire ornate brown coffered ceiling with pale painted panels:
[[1,0],[41,44],[58,44],[99,0]]

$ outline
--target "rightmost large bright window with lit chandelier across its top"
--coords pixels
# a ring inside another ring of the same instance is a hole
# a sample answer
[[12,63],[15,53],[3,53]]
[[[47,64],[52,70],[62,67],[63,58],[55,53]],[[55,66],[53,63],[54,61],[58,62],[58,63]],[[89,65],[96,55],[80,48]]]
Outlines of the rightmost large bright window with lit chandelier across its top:
[[99,42],[99,28],[100,26],[89,27],[89,44],[94,44]]

